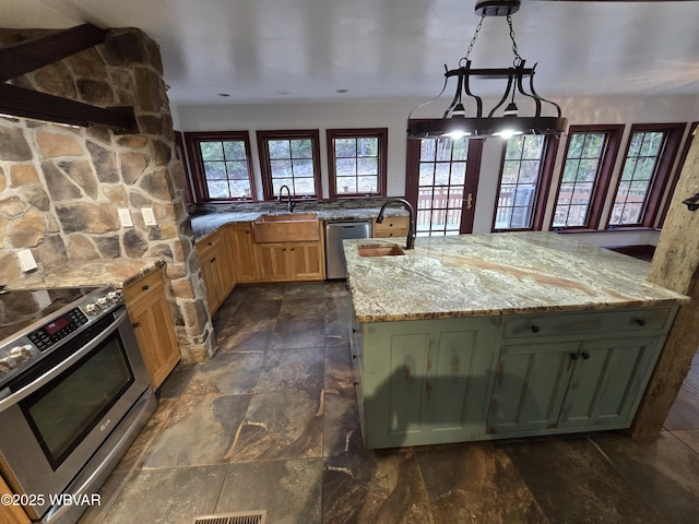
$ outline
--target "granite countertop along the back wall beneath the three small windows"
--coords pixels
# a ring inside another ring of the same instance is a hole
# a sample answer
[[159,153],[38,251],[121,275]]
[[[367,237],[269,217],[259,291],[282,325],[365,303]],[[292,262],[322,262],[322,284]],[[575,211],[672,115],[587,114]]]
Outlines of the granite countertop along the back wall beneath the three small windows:
[[[371,219],[375,218],[381,206],[376,207],[343,207],[343,209],[313,209],[305,206],[297,207],[294,213],[318,213],[319,221],[347,221],[347,219]],[[253,222],[261,215],[285,214],[286,209],[282,205],[275,211],[232,211],[220,213],[206,213],[191,218],[192,234],[194,240],[199,241],[206,235],[214,233],[221,226],[234,223]],[[386,217],[407,216],[407,211],[401,207],[387,207]]]

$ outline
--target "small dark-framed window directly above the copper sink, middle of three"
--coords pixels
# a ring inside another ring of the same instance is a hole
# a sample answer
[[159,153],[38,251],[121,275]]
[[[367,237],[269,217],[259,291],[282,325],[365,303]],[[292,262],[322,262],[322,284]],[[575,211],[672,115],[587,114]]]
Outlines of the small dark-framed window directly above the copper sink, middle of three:
[[258,131],[257,136],[264,200],[276,200],[283,186],[293,196],[321,196],[318,130]]

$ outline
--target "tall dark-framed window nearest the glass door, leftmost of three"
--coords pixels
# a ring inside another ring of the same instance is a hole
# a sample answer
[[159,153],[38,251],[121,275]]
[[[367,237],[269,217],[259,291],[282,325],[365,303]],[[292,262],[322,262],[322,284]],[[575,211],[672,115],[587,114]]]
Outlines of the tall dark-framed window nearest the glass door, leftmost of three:
[[[493,230],[540,230],[557,142],[548,135],[508,139],[503,147]],[[542,205],[538,205],[540,202]]]

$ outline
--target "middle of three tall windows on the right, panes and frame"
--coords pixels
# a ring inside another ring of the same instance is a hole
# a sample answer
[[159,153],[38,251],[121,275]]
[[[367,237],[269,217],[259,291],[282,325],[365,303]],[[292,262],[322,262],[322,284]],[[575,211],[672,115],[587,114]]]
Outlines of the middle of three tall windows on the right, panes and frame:
[[569,128],[553,229],[599,227],[623,133],[624,124]]

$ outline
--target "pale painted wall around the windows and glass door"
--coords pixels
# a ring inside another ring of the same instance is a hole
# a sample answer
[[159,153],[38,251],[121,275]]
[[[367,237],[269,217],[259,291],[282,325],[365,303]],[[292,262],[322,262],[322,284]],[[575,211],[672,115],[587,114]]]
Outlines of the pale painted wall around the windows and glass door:
[[[436,79],[436,87],[438,87]],[[546,93],[542,91],[546,96]],[[416,110],[415,118],[439,117],[450,98],[443,95],[439,102]],[[217,104],[217,105],[175,105],[173,108],[175,129],[181,131],[240,131],[249,130],[252,151],[257,151],[254,131],[269,129],[320,129],[321,169],[323,189],[328,196],[328,158],[324,130],[332,128],[389,128],[388,195],[403,195],[405,190],[405,128],[407,116],[417,104],[425,100],[367,100],[367,102],[328,102],[328,103],[277,103],[277,104]],[[692,122],[699,120],[699,96],[677,97],[604,97],[570,98],[556,100],[568,118],[569,124],[626,123],[623,139],[626,143],[628,127],[632,123],[651,122]],[[487,104],[487,103],[486,103]],[[565,140],[561,139],[561,140]],[[623,150],[623,148],[621,148]],[[490,231],[497,182],[500,169],[502,141],[486,140],[478,193],[474,233]],[[565,154],[565,143],[558,147],[554,184],[558,183],[558,172]],[[620,155],[624,151],[620,151]],[[253,165],[259,183],[259,159],[253,153]],[[617,175],[620,162],[617,163]],[[259,195],[261,198],[261,194]],[[607,203],[607,207],[611,202]],[[554,203],[549,202],[545,224],[550,222]],[[600,231],[576,234],[577,238],[600,246],[655,245],[657,231]]]

